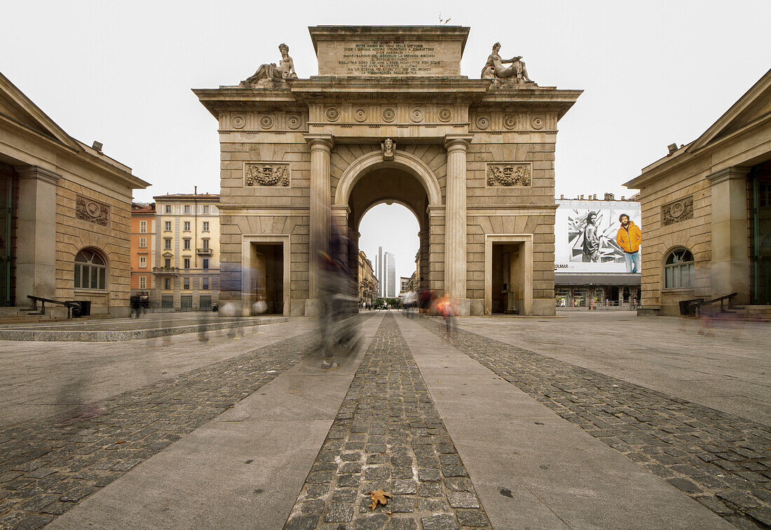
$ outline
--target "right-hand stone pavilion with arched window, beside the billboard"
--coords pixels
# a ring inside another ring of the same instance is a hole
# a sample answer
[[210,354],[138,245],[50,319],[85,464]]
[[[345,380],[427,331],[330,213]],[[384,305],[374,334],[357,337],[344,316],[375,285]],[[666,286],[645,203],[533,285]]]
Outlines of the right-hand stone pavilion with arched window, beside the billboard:
[[640,190],[642,313],[733,293],[732,304],[771,304],[771,70],[625,186]]

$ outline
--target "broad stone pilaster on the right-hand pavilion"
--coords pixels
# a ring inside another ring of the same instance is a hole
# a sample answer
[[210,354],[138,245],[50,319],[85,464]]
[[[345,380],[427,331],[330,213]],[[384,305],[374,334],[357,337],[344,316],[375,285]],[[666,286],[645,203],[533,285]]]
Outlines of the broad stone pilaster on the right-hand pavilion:
[[729,167],[707,177],[712,188],[712,297],[739,293],[734,304],[749,304],[748,172]]

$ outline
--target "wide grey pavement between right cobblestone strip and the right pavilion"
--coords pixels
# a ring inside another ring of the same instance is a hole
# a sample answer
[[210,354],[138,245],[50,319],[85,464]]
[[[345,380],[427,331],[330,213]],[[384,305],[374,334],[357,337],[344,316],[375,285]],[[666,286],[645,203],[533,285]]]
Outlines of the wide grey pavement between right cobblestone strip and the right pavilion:
[[771,323],[577,311],[557,318],[460,317],[458,326],[709,408],[771,425]]

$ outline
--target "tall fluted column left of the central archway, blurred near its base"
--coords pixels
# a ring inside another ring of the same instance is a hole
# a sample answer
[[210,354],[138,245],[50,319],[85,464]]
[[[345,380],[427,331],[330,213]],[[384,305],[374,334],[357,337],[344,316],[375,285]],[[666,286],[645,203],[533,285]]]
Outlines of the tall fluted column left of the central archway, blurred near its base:
[[305,141],[311,148],[311,226],[308,240],[308,300],[305,315],[321,314],[318,276],[318,253],[326,252],[329,243],[331,199],[329,156],[334,146],[331,134],[306,134]]

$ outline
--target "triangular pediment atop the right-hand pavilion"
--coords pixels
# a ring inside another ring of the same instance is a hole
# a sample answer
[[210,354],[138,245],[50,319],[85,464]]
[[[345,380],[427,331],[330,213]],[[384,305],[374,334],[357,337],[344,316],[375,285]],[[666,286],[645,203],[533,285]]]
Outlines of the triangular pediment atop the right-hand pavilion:
[[729,136],[771,112],[771,70],[766,72],[725,114],[689,146],[689,151],[702,149],[715,140]]

